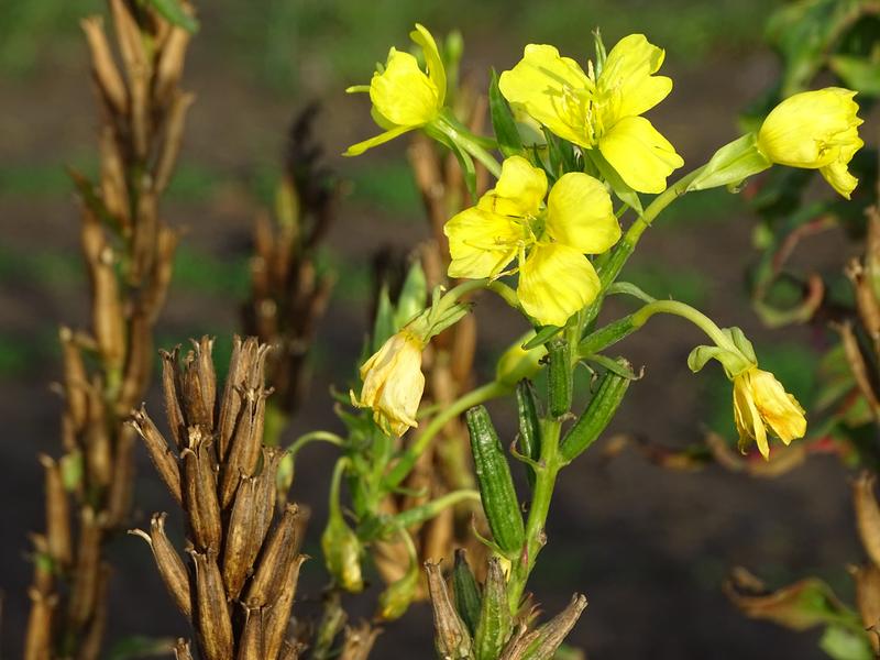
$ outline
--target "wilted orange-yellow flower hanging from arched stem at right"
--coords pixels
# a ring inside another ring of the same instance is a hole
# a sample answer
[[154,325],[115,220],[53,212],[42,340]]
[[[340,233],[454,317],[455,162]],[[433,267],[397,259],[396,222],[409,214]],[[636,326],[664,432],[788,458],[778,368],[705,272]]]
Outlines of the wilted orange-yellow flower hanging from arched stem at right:
[[765,459],[770,455],[768,431],[785,444],[806,433],[801,404],[773,374],[757,366],[734,377],[734,421],[740,451],[755,441]]

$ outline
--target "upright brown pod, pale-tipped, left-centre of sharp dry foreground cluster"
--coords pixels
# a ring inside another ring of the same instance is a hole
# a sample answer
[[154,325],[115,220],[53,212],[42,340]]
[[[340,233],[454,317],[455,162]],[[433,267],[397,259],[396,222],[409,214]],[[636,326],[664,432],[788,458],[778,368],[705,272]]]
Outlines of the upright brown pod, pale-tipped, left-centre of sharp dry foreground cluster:
[[190,427],[189,446],[182,453],[184,460],[184,506],[189,515],[197,548],[220,549],[223,537],[220,503],[217,498],[217,479],[213,462],[208,454],[209,438],[202,437],[199,427]]

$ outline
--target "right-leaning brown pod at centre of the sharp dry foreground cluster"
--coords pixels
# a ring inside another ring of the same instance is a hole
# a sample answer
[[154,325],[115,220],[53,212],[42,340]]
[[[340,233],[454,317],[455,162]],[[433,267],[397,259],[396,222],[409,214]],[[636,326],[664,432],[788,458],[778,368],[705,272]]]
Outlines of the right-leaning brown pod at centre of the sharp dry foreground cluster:
[[223,584],[227,595],[235,600],[253,566],[263,536],[257,534],[260,517],[255,512],[257,479],[243,476],[235,492],[235,502],[227,525],[226,547],[223,548]]

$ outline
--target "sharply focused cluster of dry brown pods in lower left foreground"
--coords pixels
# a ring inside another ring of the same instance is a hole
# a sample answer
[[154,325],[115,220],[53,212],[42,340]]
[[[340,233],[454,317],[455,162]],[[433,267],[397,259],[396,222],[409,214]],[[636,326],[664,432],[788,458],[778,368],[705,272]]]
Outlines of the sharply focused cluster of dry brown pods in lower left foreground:
[[[234,339],[219,400],[211,348],[202,338],[183,359],[177,349],[163,353],[174,446],[143,408],[131,420],[168,490],[182,495],[191,570],[165,536],[165,514],[153,516],[150,532],[132,534],[150,543],[165,586],[191,620],[200,657],[287,658],[298,648],[287,629],[306,557],[298,552],[299,508],[276,507],[284,452],[263,439],[268,348]],[[189,657],[185,644],[176,652]]]

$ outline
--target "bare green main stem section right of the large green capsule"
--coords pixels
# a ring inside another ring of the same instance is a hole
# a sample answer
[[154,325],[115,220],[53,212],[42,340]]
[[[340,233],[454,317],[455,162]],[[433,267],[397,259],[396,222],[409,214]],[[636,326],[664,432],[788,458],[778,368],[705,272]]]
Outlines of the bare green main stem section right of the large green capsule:
[[541,459],[536,472],[535,488],[532,490],[529,517],[526,521],[526,543],[520,557],[510,568],[510,579],[507,582],[507,603],[510,613],[519,610],[522,593],[526,590],[531,570],[538,560],[538,553],[547,543],[544,527],[547,515],[550,513],[550,502],[553,498],[557,475],[562,468],[559,460],[559,436],[562,422],[556,419],[544,420],[541,432]]

